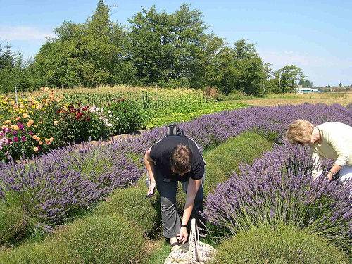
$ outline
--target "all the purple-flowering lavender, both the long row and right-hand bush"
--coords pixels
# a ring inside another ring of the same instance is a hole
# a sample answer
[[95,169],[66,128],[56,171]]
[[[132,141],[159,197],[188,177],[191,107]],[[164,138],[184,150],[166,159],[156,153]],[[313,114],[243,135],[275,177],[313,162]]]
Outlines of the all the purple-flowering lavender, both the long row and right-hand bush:
[[[203,151],[243,132],[275,142],[272,151],[253,165],[242,164],[241,173],[208,195],[206,218],[227,235],[263,222],[284,222],[318,234],[351,256],[352,182],[328,183],[321,178],[310,183],[308,149],[291,146],[283,138],[289,123],[298,118],[315,125],[327,121],[352,125],[352,106],[249,107],[180,123]],[[38,230],[55,232],[57,225],[79,218],[77,211],[103,203],[115,189],[137,184],[144,177],[144,152],[164,134],[165,127],[159,127],[104,146],[73,145],[25,163],[1,163],[0,244],[11,246]]]

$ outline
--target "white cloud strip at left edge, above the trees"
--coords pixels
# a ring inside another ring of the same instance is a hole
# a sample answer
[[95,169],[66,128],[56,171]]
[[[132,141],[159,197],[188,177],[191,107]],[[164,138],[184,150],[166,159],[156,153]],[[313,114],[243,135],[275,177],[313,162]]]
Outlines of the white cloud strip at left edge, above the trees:
[[37,27],[0,25],[1,40],[45,40],[47,37],[55,37],[55,34]]

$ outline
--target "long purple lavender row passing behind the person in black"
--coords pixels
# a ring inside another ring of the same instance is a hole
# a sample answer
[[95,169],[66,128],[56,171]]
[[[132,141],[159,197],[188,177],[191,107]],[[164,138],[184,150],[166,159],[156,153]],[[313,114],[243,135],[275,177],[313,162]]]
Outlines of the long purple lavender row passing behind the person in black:
[[[251,107],[204,115],[180,127],[203,149],[209,149],[249,130],[279,137],[296,118],[315,124],[339,121],[352,125],[352,108],[323,104]],[[75,210],[87,208],[113,189],[138,180],[144,173],[144,151],[164,134],[165,127],[161,127],[105,146],[68,146],[29,163],[0,163],[0,206],[8,210],[20,206],[23,215],[18,219],[21,228],[16,225],[13,236],[38,227],[50,230],[72,218]]]

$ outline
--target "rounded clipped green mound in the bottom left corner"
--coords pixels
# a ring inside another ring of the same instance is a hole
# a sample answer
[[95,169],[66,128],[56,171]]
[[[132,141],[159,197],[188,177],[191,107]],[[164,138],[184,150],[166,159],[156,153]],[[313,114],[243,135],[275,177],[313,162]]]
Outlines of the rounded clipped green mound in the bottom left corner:
[[42,242],[0,251],[0,263],[142,263],[144,237],[120,214],[89,216]]

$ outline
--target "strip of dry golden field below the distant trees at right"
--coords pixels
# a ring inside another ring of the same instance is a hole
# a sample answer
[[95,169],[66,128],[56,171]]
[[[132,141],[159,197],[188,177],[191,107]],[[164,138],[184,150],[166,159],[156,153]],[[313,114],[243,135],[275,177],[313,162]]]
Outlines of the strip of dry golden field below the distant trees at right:
[[269,94],[265,98],[243,99],[241,102],[248,103],[252,106],[282,106],[301,103],[326,103],[328,105],[339,103],[342,106],[347,106],[349,103],[352,103],[352,92],[329,92],[321,94]]

